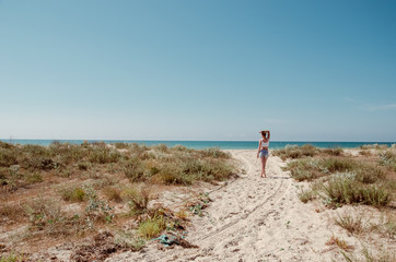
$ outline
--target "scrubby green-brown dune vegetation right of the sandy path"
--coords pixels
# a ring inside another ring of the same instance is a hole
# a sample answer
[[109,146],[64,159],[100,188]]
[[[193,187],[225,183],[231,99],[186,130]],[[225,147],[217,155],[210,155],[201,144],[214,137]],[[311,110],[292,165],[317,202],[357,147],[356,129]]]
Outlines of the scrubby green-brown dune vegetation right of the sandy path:
[[[380,222],[364,216],[364,213],[338,215],[336,225],[353,234],[360,241],[370,242],[372,239],[384,238],[386,241],[395,237],[394,195],[396,190],[396,153],[394,146],[363,145],[359,154],[338,148],[311,150],[314,154],[304,155],[302,146],[275,152],[287,163],[286,170],[298,181],[312,181],[310,190],[300,189],[298,196],[304,203],[313,199],[322,200],[330,209],[341,205],[364,204],[377,209],[385,218]],[[376,238],[368,238],[368,235]],[[331,236],[326,242],[338,247],[346,261],[394,261],[395,255],[386,249],[369,251],[368,248],[357,257],[352,254],[353,247],[345,240]]]

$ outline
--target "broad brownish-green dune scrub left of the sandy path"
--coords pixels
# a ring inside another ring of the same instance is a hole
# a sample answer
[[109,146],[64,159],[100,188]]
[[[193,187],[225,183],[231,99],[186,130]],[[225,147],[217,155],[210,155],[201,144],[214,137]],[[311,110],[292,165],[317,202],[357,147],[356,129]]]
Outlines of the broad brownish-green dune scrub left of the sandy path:
[[[23,239],[40,241],[60,236],[82,237],[107,226],[117,230],[121,225],[118,222],[132,218],[137,224],[128,231],[130,237],[117,235],[117,241],[137,251],[144,246],[143,239],[166,228],[178,230],[188,217],[188,207],[177,214],[149,209],[153,186],[224,180],[235,171],[231,155],[218,148],[0,142],[0,219],[7,226],[27,225],[28,233],[23,233]],[[27,198],[21,194],[19,203],[23,204],[18,204],[12,199],[19,191],[33,193]],[[130,212],[126,211],[128,206]]]

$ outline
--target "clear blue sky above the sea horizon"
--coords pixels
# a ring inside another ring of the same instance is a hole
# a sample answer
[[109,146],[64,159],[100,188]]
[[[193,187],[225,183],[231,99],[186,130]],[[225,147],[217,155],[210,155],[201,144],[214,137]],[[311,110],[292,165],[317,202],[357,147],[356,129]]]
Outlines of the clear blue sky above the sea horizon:
[[0,0],[0,138],[396,141],[396,1]]

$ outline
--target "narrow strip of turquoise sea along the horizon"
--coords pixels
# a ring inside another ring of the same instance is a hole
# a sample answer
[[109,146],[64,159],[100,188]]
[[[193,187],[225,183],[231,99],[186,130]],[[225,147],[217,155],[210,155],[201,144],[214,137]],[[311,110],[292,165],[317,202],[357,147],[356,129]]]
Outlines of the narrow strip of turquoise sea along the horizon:
[[[36,144],[36,145],[49,145],[54,140],[1,140],[12,144]],[[61,143],[81,144],[84,140],[57,140]],[[98,140],[88,140],[88,142],[98,142]],[[219,147],[221,150],[255,150],[258,146],[258,141],[143,141],[143,140],[103,140],[105,143],[138,143],[147,145],[165,144],[170,147],[175,145],[184,145],[189,148],[208,148]],[[270,150],[284,148],[287,145],[304,145],[312,144],[321,148],[353,148],[365,144],[386,144],[391,146],[396,142],[304,142],[304,141],[270,141]]]

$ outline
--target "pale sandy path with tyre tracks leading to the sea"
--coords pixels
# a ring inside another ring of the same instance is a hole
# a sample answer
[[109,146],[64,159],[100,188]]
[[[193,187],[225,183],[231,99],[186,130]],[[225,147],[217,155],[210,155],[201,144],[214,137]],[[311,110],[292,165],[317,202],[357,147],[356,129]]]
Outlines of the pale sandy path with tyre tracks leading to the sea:
[[282,171],[279,157],[269,157],[264,179],[256,151],[230,152],[246,174],[211,192],[208,215],[193,218],[186,239],[199,249],[163,251],[149,245],[142,252],[118,253],[106,261],[331,261],[338,257],[326,246],[334,225],[299,200],[298,183]]

